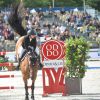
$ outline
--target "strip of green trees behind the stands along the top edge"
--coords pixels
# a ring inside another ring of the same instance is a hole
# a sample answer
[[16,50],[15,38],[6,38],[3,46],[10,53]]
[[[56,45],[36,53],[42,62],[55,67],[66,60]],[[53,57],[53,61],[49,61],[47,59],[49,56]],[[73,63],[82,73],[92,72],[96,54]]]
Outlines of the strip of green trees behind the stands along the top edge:
[[[0,0],[0,7],[9,7],[20,0]],[[52,6],[53,0],[23,0],[25,7],[48,7]],[[82,7],[83,0],[54,0],[55,7]],[[90,5],[100,10],[100,0],[85,0],[86,5]]]

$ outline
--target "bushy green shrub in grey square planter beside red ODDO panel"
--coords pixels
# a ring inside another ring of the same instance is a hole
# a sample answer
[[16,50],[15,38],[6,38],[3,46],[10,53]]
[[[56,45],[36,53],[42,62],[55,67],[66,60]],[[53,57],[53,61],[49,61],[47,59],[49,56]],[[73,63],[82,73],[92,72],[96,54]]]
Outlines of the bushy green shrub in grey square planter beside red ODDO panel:
[[67,94],[82,94],[82,78],[85,76],[89,46],[83,37],[66,40],[65,91]]

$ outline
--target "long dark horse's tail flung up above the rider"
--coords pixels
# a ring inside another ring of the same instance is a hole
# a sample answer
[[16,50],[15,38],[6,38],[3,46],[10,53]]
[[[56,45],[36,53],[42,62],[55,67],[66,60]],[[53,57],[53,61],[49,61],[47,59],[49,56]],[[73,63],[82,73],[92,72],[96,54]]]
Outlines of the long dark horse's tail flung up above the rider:
[[22,16],[18,12],[19,6],[20,3],[12,7],[11,13],[8,18],[8,22],[17,34],[19,34],[20,36],[24,36],[27,34],[27,31],[22,25]]

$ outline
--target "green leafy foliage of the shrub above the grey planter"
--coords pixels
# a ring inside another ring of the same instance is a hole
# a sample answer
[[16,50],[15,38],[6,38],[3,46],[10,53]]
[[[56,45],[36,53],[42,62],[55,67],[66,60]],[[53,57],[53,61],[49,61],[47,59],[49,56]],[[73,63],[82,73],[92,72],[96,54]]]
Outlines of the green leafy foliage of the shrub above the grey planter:
[[75,39],[71,37],[66,40],[65,68],[68,71],[67,77],[84,77],[88,50],[88,43],[83,37],[76,37]]

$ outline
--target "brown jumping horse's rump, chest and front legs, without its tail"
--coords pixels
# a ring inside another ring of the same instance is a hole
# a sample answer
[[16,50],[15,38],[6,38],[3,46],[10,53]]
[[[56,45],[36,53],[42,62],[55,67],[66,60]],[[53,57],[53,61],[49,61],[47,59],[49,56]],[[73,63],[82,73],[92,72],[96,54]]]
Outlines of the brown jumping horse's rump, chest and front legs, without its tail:
[[[23,42],[24,36],[22,36],[21,38],[19,38],[19,40],[16,43],[16,57],[18,59],[18,48],[21,46],[22,42]],[[34,56],[34,53],[31,54],[32,56]],[[34,59],[33,59],[34,60]],[[24,81],[24,85],[25,85],[25,100],[29,100],[28,99],[28,79],[31,78],[32,80],[32,84],[31,84],[31,98],[32,100],[34,100],[34,83],[37,77],[37,72],[38,72],[38,60],[36,60],[35,64],[32,64],[30,61],[30,54],[26,53],[24,56],[24,59],[20,62],[20,68],[21,68],[21,72],[22,72],[22,77],[23,77],[23,81]]]

